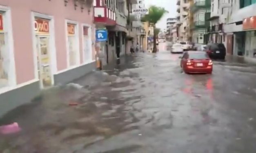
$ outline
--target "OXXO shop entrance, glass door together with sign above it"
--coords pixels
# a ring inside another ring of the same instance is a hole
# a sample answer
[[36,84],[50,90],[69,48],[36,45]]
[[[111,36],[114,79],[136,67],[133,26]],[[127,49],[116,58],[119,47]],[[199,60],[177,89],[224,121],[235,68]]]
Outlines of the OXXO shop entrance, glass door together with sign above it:
[[50,45],[50,20],[35,17],[34,20],[34,45],[36,55],[36,65],[40,87],[45,88],[53,85],[53,73],[51,64],[52,47]]

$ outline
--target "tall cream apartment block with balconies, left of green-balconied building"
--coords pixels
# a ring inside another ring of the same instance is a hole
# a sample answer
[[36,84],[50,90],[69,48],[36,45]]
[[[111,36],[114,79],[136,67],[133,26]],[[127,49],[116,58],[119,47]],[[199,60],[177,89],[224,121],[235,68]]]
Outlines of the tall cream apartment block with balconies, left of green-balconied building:
[[177,0],[178,40],[188,41],[189,0]]

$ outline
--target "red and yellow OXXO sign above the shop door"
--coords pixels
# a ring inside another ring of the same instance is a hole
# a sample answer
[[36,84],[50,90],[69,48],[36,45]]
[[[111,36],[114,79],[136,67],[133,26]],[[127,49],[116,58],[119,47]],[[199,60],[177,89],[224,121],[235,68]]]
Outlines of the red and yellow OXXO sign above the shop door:
[[49,20],[35,19],[35,31],[36,33],[49,34]]

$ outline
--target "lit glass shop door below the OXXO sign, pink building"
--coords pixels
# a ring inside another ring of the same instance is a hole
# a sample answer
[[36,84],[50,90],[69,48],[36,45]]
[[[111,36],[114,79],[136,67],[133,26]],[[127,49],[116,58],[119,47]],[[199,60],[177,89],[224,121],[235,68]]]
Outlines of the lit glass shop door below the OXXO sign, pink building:
[[53,81],[51,75],[49,40],[49,36],[36,35],[38,77],[40,80],[40,87],[42,88],[50,87]]

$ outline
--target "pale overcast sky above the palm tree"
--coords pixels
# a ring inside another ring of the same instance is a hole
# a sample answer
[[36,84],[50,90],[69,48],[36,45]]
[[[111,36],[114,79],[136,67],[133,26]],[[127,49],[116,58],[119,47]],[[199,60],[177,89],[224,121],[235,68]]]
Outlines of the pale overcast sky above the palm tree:
[[156,27],[164,30],[166,28],[166,20],[168,17],[176,17],[177,0],[145,0],[145,7],[156,5],[157,7],[164,7],[169,13],[166,13],[163,18],[156,24]]

